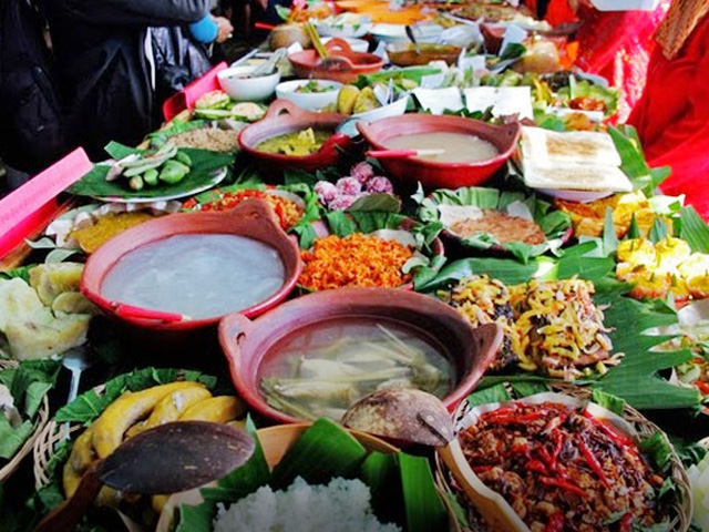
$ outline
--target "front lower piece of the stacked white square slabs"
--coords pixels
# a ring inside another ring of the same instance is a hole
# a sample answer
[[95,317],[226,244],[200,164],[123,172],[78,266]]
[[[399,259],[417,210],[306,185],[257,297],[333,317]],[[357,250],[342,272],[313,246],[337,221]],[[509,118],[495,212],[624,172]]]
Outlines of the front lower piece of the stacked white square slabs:
[[524,184],[531,188],[631,192],[633,183],[617,166],[558,163],[536,166],[525,162]]

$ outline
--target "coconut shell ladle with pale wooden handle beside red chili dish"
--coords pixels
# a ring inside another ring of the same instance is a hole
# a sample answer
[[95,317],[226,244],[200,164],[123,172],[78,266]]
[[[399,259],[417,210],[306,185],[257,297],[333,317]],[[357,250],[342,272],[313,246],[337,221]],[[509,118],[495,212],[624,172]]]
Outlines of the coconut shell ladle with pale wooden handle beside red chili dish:
[[530,532],[504,498],[473,472],[455,436],[451,415],[438,397],[404,388],[374,391],[347,410],[342,424],[397,442],[436,448],[491,530]]

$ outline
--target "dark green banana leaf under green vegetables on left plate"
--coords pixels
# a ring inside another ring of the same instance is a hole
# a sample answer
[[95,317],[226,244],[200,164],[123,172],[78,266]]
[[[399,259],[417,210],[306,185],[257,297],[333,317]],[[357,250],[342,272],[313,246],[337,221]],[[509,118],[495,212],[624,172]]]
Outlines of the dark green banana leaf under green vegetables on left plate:
[[[135,153],[136,150],[122,146],[117,143],[111,143],[106,146],[106,151],[114,158]],[[145,186],[140,191],[132,191],[127,186],[125,177],[119,177],[115,181],[106,181],[110,164],[96,164],[86,175],[68,188],[66,192],[79,196],[116,196],[122,198],[160,198],[164,196],[173,196],[177,194],[188,194],[209,183],[215,183],[215,175],[223,168],[228,168],[234,164],[234,154],[217,153],[208,150],[181,149],[192,160],[191,172],[178,183],[171,185],[158,183],[156,186]]]

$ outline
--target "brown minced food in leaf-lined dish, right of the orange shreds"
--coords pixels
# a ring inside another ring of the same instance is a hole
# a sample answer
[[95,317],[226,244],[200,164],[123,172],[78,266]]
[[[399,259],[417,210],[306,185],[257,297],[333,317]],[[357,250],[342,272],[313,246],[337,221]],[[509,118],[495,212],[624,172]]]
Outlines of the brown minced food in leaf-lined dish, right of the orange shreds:
[[463,238],[476,233],[490,233],[503,244],[524,242],[536,245],[546,241],[544,232],[534,222],[493,209],[484,209],[482,218],[479,219],[466,218],[455,222],[449,229]]

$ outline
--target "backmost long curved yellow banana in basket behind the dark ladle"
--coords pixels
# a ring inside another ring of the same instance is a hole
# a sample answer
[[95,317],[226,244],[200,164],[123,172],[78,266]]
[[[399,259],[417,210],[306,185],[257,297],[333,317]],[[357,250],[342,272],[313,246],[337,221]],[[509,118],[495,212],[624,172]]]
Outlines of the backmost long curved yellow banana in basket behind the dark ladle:
[[146,390],[125,392],[113,401],[93,423],[93,447],[99,458],[110,456],[123,441],[129,427],[147,416],[157,402],[174,391],[203,387],[198,382],[171,382]]

